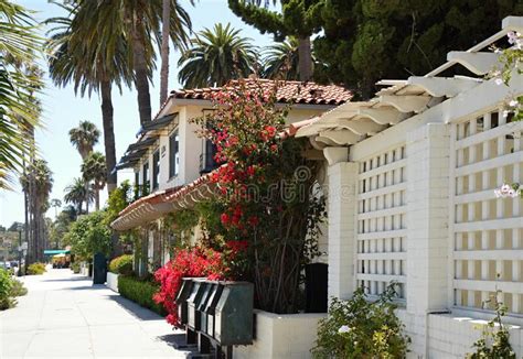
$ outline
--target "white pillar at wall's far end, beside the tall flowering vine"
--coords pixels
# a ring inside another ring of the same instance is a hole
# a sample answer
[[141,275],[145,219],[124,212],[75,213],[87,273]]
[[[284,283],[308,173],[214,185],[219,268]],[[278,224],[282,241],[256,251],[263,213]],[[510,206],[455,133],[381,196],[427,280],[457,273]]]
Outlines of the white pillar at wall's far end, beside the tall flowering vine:
[[329,298],[348,300],[354,290],[357,164],[329,166]]

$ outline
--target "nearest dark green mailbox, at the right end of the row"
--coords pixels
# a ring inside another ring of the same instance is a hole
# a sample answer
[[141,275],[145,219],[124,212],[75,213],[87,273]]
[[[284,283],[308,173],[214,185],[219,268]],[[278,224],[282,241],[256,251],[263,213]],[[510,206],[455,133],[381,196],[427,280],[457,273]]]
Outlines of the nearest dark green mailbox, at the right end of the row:
[[214,314],[214,338],[221,346],[253,344],[254,285],[220,282],[223,292]]

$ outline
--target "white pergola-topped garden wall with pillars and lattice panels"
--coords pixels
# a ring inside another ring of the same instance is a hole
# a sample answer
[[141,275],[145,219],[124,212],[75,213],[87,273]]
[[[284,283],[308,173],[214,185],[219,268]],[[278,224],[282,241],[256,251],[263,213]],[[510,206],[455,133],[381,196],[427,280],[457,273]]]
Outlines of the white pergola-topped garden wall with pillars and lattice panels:
[[[488,47],[523,18],[423,77],[382,80],[364,102],[348,102],[298,130],[328,161],[329,294],[357,286],[377,295],[401,283],[398,311],[412,357],[463,358],[492,318],[482,302],[497,290],[508,305],[511,344],[523,356],[523,200],[497,198],[523,182],[523,122],[504,113],[523,94],[485,79]],[[465,66],[473,77],[445,77]]]

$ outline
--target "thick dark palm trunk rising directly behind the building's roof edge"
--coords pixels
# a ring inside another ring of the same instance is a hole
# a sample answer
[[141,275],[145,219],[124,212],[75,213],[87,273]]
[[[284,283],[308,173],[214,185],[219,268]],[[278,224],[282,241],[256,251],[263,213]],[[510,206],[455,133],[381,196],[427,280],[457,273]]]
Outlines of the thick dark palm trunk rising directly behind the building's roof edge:
[[132,66],[135,68],[135,86],[138,91],[138,111],[140,123],[151,120],[151,96],[149,94],[149,77],[146,63],[145,39],[142,33],[142,20],[136,17],[132,24]]

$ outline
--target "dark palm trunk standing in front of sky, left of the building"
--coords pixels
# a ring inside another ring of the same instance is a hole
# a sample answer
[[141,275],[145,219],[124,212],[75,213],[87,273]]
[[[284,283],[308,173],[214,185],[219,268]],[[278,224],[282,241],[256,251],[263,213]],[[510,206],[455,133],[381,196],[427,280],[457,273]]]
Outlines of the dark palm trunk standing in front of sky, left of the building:
[[[110,81],[105,80],[100,85],[102,94],[102,119],[104,122],[105,164],[107,167],[107,192],[110,194],[116,189],[117,172],[115,129],[113,123],[113,100],[110,96]],[[99,198],[97,199],[99,202]],[[99,206],[99,204],[97,204]],[[97,208],[98,209],[98,208]]]

